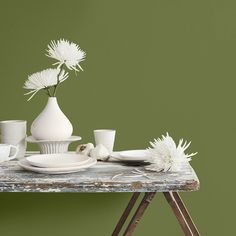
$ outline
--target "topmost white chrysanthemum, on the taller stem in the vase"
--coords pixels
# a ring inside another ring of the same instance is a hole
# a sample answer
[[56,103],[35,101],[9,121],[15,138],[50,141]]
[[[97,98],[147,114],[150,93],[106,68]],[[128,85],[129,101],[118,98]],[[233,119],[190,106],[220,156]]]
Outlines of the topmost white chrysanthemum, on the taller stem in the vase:
[[58,67],[65,64],[69,70],[79,71],[78,66],[83,71],[79,63],[85,59],[86,53],[80,49],[79,45],[65,39],[51,41],[47,53],[48,57],[58,60],[55,63]]

